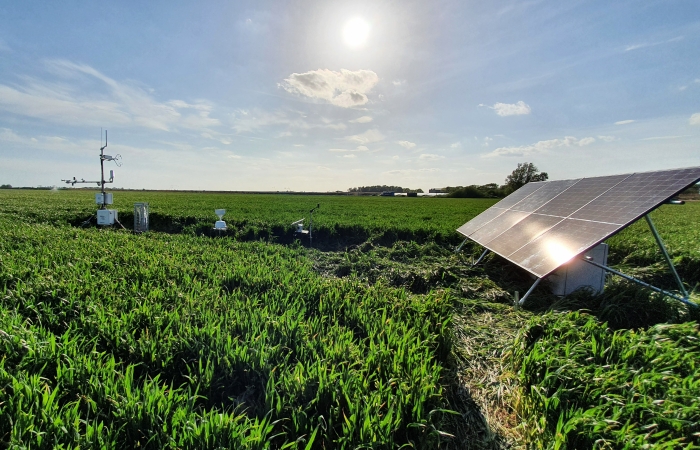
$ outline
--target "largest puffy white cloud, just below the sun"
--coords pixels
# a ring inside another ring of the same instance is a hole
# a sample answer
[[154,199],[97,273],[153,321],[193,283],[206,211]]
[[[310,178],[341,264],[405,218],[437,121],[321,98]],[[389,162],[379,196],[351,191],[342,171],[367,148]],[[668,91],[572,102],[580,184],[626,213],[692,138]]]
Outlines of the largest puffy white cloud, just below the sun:
[[371,70],[346,70],[334,72],[328,69],[293,73],[279,86],[291,94],[299,94],[313,99],[350,108],[364,105],[369,101],[367,93],[379,81]]

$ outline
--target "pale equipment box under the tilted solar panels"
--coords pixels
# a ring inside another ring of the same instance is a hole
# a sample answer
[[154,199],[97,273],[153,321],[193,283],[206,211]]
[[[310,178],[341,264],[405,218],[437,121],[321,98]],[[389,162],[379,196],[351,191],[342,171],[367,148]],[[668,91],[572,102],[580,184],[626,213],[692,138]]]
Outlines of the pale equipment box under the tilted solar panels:
[[[608,244],[601,243],[582,255],[598,264],[606,265]],[[605,287],[605,271],[579,258],[574,258],[549,276],[549,286],[554,295],[569,295],[576,289],[588,289],[600,294]]]

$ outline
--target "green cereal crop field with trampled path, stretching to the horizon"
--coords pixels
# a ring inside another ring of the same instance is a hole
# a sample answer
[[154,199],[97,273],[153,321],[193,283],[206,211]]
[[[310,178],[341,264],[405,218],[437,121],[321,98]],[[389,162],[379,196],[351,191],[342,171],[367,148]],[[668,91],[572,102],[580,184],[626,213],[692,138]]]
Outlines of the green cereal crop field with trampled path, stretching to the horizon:
[[[3,448],[700,448],[698,310],[614,278],[514,308],[525,273],[452,251],[495,200],[114,197],[126,230],[0,190]],[[700,301],[700,203],[652,217]],[[610,262],[674,289],[645,226]]]

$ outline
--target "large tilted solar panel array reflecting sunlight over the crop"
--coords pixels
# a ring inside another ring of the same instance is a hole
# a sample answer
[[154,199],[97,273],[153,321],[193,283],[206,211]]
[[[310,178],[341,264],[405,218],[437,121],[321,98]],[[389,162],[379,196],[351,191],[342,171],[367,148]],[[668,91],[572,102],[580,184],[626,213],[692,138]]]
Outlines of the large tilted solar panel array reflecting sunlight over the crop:
[[457,231],[538,278],[700,180],[700,167],[528,183]]

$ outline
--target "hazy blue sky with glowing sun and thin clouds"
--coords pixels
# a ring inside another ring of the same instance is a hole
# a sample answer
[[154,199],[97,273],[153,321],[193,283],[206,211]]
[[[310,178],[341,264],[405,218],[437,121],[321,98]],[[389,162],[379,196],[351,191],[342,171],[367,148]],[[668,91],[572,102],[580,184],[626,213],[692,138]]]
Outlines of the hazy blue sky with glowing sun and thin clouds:
[[0,184],[99,180],[103,129],[130,189],[700,166],[700,5],[0,0]]

